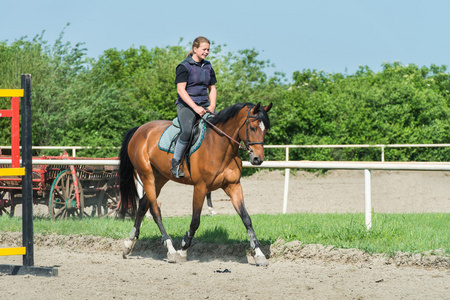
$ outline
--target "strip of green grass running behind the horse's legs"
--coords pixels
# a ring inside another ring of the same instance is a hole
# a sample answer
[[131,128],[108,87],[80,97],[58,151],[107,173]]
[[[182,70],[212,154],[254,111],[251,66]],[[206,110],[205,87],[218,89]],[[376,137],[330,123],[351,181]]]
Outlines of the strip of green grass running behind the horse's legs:
[[[181,239],[189,228],[190,217],[164,218],[164,226],[173,239]],[[356,248],[367,253],[424,253],[443,249],[450,255],[450,214],[374,214],[372,229],[366,230],[364,214],[286,214],[253,215],[256,235],[262,244],[278,238],[299,240],[304,244]],[[81,234],[122,239],[133,227],[131,220],[84,218],[52,221],[35,218],[34,232],[42,234]],[[0,217],[0,231],[21,231],[20,217]],[[159,239],[159,230],[152,219],[144,219],[143,239]],[[203,216],[195,239],[203,242],[247,243],[246,230],[239,216]]]

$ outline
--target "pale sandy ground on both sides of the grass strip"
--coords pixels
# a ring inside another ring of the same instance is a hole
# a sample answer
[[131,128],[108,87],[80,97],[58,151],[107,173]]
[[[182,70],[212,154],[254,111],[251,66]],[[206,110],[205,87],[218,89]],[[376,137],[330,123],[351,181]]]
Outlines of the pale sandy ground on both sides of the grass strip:
[[[242,185],[251,215],[282,212],[282,172],[262,171]],[[163,215],[189,215],[191,195],[192,187],[167,184],[160,196]],[[221,191],[213,192],[213,203],[218,214],[235,213]],[[375,212],[450,213],[450,172],[373,171],[372,203]],[[363,171],[291,175],[287,211],[363,212]],[[20,244],[19,233],[1,233],[0,247]],[[439,255],[388,259],[277,241],[263,248],[270,265],[257,267],[246,254],[248,245],[241,244],[215,248],[194,239],[184,264],[166,262],[159,244],[138,243],[127,260],[120,249],[121,241],[92,236],[35,235],[35,265],[56,267],[59,275],[0,274],[0,298],[450,299],[450,261]],[[0,264],[21,265],[22,257],[0,257]]]

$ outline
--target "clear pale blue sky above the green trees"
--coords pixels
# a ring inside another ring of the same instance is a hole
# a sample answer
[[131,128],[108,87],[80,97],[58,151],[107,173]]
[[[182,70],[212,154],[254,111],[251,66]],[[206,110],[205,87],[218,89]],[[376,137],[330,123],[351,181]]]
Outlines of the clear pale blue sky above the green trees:
[[[45,30],[53,43],[106,49],[188,45],[203,35],[225,50],[256,49],[275,71],[353,74],[383,62],[450,65],[450,1],[417,0],[1,0],[0,40]],[[214,49],[212,49],[214,50]],[[210,55],[214,55],[212,52]],[[272,70],[273,71],[273,70]],[[270,71],[269,71],[270,72]]]

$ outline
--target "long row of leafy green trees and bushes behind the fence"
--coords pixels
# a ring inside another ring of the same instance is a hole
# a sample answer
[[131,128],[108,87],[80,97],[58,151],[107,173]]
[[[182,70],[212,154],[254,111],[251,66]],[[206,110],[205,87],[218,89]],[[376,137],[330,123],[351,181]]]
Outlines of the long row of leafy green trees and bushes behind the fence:
[[[129,128],[176,116],[175,68],[189,47],[107,49],[97,59],[82,43],[54,44],[44,32],[0,42],[0,88],[20,88],[32,74],[34,145],[104,147],[83,155],[115,156]],[[180,40],[181,43],[182,40]],[[237,102],[274,104],[266,144],[402,144],[450,142],[450,75],[445,66],[385,63],[342,75],[296,71],[292,82],[255,49],[225,52],[212,44],[221,110]],[[1,108],[9,99],[0,99]],[[0,144],[9,144],[9,120],[0,119]],[[447,160],[450,149],[394,149],[390,160]],[[284,159],[284,153],[270,153]],[[373,149],[298,150],[291,159],[377,160]]]

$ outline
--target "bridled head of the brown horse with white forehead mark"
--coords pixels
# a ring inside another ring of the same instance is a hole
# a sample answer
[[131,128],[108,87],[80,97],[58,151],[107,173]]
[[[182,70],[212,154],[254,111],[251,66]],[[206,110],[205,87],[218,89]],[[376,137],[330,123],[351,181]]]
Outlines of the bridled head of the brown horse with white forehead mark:
[[239,137],[244,141],[250,153],[250,163],[260,165],[264,161],[264,136],[270,128],[270,120],[267,113],[272,108],[272,103],[261,106],[258,103],[247,111],[245,124],[241,127]]

